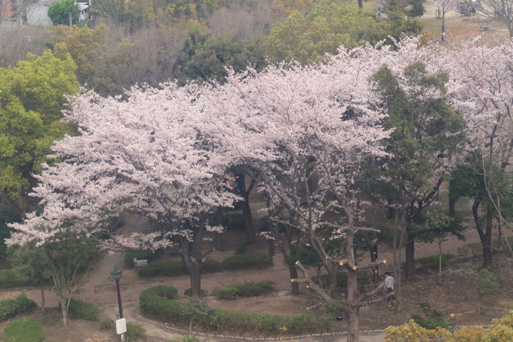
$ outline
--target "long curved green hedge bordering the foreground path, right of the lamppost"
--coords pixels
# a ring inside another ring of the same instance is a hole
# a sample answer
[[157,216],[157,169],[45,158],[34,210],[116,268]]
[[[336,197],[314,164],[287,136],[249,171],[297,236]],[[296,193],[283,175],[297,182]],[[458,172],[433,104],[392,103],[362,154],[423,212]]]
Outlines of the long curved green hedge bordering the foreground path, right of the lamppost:
[[[170,323],[190,324],[186,312],[193,312],[194,305],[181,301],[166,299],[161,296],[163,288],[176,291],[173,287],[159,286],[150,288],[139,296],[139,306],[142,313]],[[196,317],[194,324],[215,331],[239,333],[241,331],[255,334],[287,334],[297,335],[327,331],[332,320],[327,317],[310,316],[280,316],[270,314],[250,314],[214,309],[212,315]],[[283,329],[285,328],[285,329]]]

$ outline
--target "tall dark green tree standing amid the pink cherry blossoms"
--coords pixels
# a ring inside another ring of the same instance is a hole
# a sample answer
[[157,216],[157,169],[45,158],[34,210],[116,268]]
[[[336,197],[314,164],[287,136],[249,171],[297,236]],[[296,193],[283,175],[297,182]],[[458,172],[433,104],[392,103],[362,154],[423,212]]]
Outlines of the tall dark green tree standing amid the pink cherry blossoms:
[[369,161],[367,178],[360,183],[368,196],[390,211],[396,228],[399,220],[403,227],[399,242],[394,239],[398,296],[401,253],[397,249],[402,250],[406,241],[406,277],[410,279],[416,239],[413,224],[420,223],[422,210],[435,200],[446,178],[447,160],[465,140],[464,120],[447,104],[447,77],[429,74],[421,62],[406,67],[402,79],[388,68],[374,76],[381,106],[388,113],[384,126],[392,133],[383,142],[389,155],[375,158],[373,164]]

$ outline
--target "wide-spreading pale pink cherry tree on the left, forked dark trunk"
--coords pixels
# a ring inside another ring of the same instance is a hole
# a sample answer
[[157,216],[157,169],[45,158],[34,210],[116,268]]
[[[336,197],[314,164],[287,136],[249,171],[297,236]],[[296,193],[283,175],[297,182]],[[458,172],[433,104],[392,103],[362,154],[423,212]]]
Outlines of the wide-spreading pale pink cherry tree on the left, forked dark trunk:
[[[71,99],[66,117],[80,135],[66,136],[53,150],[63,160],[45,165],[33,195],[44,212],[28,214],[9,243],[52,241],[62,231],[84,232],[106,248],[166,249],[180,255],[201,293],[203,250],[211,227],[207,215],[238,199],[220,190],[230,156],[212,138],[209,117],[187,88],[167,84],[103,98],[83,93]],[[107,219],[122,211],[150,217],[160,229],[109,231]],[[108,233],[109,238],[97,236]]]

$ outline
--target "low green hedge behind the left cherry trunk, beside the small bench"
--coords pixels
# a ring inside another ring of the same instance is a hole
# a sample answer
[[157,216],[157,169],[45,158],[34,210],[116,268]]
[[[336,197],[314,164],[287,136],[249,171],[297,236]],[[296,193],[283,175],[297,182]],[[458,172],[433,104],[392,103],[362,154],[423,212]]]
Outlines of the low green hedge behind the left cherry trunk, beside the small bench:
[[[201,273],[214,273],[223,270],[223,265],[219,261],[206,259],[202,263]],[[140,277],[158,277],[158,276],[178,276],[187,274],[184,262],[182,260],[153,260],[145,267],[137,269]]]

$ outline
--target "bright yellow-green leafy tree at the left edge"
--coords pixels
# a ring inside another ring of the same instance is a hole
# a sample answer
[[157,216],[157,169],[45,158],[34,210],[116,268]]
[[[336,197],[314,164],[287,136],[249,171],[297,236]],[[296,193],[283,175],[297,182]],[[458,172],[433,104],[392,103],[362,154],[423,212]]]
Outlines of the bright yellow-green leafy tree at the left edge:
[[53,141],[70,131],[61,110],[78,88],[75,71],[69,54],[59,59],[50,51],[0,69],[0,198],[22,219],[34,174],[49,162]]

